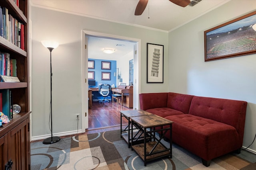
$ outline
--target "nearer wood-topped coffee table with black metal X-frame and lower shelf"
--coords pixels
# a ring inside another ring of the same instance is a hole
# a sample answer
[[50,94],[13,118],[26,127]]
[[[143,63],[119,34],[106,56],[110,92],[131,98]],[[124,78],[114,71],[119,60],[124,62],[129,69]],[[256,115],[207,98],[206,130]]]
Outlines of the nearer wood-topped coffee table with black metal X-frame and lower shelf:
[[[168,119],[158,115],[145,115],[138,117],[130,117],[131,126],[135,126],[144,133],[144,143],[134,143],[131,139],[132,149],[142,158],[144,166],[149,161],[159,158],[170,157],[172,158],[172,123]],[[156,128],[157,127],[157,128]],[[159,139],[156,137],[156,132],[159,134]],[[131,136],[133,137],[134,131],[131,129]],[[170,147],[164,146],[161,142],[164,140],[164,135],[170,135]],[[151,140],[148,141],[146,137],[150,136]]]

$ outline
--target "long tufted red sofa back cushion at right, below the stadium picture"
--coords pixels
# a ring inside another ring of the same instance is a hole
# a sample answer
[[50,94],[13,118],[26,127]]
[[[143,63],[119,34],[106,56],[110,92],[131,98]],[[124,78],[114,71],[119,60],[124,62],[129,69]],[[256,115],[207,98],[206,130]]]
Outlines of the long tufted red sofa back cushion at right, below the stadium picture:
[[247,102],[194,96],[188,114],[212,119],[236,128],[243,141]]

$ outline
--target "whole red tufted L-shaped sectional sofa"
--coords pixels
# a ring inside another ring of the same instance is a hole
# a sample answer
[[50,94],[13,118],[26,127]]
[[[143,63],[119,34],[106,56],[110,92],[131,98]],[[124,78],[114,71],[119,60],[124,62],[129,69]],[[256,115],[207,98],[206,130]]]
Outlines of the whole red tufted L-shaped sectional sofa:
[[204,166],[229,152],[240,153],[247,102],[172,92],[139,96],[140,109],[173,121],[172,141],[202,158]]

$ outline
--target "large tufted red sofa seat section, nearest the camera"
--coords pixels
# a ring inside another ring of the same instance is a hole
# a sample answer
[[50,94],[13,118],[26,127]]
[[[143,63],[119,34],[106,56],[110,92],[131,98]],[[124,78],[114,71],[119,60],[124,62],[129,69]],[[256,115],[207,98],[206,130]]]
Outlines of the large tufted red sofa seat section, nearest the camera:
[[[165,117],[172,124],[172,141],[205,160],[240,148],[239,135],[230,125],[189,114]],[[166,136],[168,137],[168,136]]]

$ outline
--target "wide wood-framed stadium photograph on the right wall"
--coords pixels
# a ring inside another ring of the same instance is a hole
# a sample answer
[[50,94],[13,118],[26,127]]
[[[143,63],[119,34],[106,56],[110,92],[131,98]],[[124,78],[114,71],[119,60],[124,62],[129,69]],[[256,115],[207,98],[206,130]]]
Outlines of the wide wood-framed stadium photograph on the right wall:
[[256,11],[204,31],[204,61],[256,53]]

